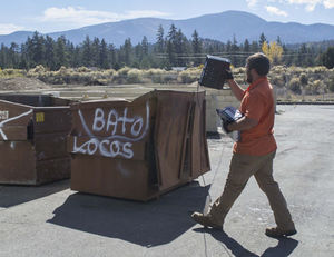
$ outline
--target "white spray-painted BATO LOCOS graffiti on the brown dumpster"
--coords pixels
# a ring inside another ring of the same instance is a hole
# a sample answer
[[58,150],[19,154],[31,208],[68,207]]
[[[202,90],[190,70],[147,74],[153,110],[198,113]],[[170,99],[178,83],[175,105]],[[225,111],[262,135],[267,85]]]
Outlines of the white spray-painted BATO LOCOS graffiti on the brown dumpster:
[[[140,141],[149,129],[149,103],[146,102],[146,119],[141,116],[128,117],[128,108],[125,107],[122,113],[115,109],[105,113],[101,108],[95,109],[91,128],[87,126],[85,117],[80,110],[78,115],[82,128],[89,136],[89,140],[78,146],[78,137],[73,137],[72,152],[84,155],[95,155],[99,152],[104,157],[124,157],[131,159],[134,157],[132,144]],[[95,132],[104,131],[106,137],[99,138]]]

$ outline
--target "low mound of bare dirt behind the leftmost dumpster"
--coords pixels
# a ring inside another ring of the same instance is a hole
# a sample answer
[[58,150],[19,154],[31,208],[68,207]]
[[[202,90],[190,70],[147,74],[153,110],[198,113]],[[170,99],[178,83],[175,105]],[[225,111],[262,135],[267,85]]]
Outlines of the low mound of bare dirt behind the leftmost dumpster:
[[0,78],[0,91],[51,89],[51,87],[33,78]]

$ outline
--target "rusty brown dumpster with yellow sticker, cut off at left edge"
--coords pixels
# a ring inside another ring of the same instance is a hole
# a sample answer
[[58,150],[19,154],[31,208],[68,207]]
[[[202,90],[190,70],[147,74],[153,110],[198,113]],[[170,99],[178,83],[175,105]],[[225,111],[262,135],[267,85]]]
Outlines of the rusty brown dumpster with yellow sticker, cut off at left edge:
[[69,178],[69,103],[45,95],[0,95],[0,184]]

